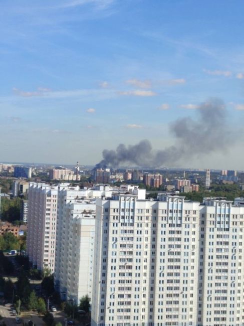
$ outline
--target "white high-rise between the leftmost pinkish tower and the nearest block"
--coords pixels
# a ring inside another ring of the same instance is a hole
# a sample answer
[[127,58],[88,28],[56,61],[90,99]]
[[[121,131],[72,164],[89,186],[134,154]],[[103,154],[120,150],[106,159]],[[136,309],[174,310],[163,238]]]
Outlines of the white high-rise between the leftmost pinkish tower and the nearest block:
[[92,297],[96,200],[111,198],[112,192],[119,191],[145,196],[145,191],[137,188],[112,190],[98,185],[81,190],[68,184],[59,186],[54,281],[62,299],[79,303],[86,294]]

